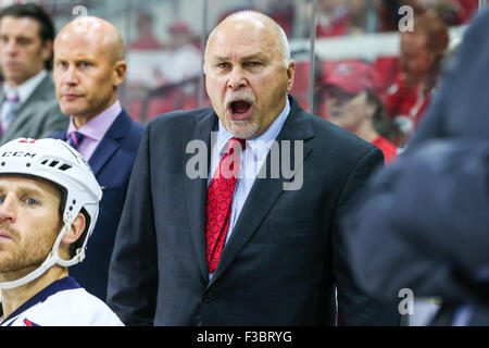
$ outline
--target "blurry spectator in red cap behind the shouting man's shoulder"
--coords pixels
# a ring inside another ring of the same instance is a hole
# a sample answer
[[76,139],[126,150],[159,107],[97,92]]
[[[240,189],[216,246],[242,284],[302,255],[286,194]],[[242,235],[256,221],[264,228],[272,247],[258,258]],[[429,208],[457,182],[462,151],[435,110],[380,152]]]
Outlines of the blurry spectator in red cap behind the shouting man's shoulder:
[[327,119],[376,145],[386,163],[390,163],[396,159],[397,148],[386,138],[391,136],[392,122],[385,115],[378,80],[377,72],[367,63],[339,63],[326,75]]

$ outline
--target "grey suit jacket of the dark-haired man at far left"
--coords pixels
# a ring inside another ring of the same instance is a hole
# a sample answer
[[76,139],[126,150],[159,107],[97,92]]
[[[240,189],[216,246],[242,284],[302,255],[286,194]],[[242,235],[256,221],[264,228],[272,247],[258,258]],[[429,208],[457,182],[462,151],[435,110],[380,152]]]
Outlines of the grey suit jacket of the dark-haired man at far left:
[[[0,90],[0,100],[3,103],[3,90]],[[5,134],[0,135],[0,145],[18,137],[43,138],[65,129],[68,122],[70,119],[60,110],[54,84],[51,74],[48,73],[17,110]]]

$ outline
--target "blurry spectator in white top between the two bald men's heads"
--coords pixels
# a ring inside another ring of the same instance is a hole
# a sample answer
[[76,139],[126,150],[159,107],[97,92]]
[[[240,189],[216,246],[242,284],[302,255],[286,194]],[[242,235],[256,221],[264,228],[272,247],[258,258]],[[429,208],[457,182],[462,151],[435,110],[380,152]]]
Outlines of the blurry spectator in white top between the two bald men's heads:
[[168,34],[168,52],[160,66],[161,85],[199,76],[202,72],[201,52],[190,27],[183,21],[176,21],[170,25]]

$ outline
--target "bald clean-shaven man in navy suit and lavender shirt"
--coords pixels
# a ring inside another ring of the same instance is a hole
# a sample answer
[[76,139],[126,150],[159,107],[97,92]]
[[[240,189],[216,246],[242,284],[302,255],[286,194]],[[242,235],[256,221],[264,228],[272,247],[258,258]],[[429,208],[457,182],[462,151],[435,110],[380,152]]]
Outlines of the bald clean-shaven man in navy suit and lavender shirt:
[[103,189],[87,245],[90,258],[71,271],[89,293],[105,300],[115,232],[143,130],[117,97],[126,74],[121,34],[97,17],[70,22],[54,40],[53,73],[61,110],[71,116],[67,129],[52,137],[77,148]]

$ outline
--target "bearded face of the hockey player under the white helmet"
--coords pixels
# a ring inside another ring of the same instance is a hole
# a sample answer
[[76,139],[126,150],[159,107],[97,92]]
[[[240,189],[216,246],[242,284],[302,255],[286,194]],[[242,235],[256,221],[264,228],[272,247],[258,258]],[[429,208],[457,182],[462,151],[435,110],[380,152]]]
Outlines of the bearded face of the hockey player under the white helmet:
[[61,231],[61,194],[26,176],[0,176],[0,281],[17,279],[48,257]]

